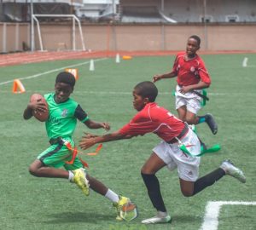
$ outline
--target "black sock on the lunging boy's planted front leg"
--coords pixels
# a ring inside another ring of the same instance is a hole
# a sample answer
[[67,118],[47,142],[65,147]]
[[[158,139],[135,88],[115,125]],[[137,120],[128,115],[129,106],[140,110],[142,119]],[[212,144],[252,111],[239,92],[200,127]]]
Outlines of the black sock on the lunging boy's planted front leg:
[[143,174],[143,181],[148,189],[148,196],[158,211],[166,212],[166,205],[160,192],[160,183],[155,175]]

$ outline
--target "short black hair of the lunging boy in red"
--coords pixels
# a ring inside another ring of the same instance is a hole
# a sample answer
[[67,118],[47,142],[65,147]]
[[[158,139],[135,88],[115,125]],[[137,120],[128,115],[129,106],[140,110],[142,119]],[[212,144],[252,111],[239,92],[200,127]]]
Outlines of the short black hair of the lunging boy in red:
[[156,96],[158,95],[158,89],[156,88],[155,84],[149,81],[138,83],[134,89],[136,89],[137,94],[143,98],[148,97],[150,102],[154,102]]

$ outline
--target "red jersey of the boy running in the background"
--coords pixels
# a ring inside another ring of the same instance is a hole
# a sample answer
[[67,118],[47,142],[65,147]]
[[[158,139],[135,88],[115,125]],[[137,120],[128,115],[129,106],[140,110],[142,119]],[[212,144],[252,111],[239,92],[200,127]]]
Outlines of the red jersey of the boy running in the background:
[[201,80],[210,85],[211,78],[201,57],[195,54],[194,59],[185,60],[185,55],[186,52],[178,53],[172,67],[172,72],[177,75],[177,84],[188,86]]

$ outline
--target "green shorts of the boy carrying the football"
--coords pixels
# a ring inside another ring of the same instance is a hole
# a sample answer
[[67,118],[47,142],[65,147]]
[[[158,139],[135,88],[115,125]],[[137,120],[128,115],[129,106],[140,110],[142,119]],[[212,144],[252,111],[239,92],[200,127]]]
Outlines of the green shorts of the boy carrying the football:
[[[74,141],[70,138],[65,138],[65,141],[70,141],[72,147],[74,147]],[[61,168],[62,166],[66,170],[77,170],[79,168],[84,168],[78,157],[73,161],[73,164],[67,164],[73,156],[73,151],[69,150],[63,143],[57,143],[51,145],[49,148],[44,150],[44,152],[38,155],[38,159],[46,166]]]

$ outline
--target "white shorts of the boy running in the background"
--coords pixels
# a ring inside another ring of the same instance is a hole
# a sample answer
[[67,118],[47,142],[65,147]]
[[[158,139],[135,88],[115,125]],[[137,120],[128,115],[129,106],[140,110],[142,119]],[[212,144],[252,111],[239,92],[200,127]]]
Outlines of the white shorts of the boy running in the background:
[[[179,85],[177,85],[176,93],[175,93],[176,109],[178,109],[181,106],[186,106],[189,112],[193,112],[194,114],[197,114],[197,112],[199,112],[199,110],[201,109],[201,97],[198,95],[195,95],[195,93],[193,92],[189,92],[183,95],[179,92],[179,89],[181,88]],[[201,93],[201,90],[196,90],[196,91]]]

